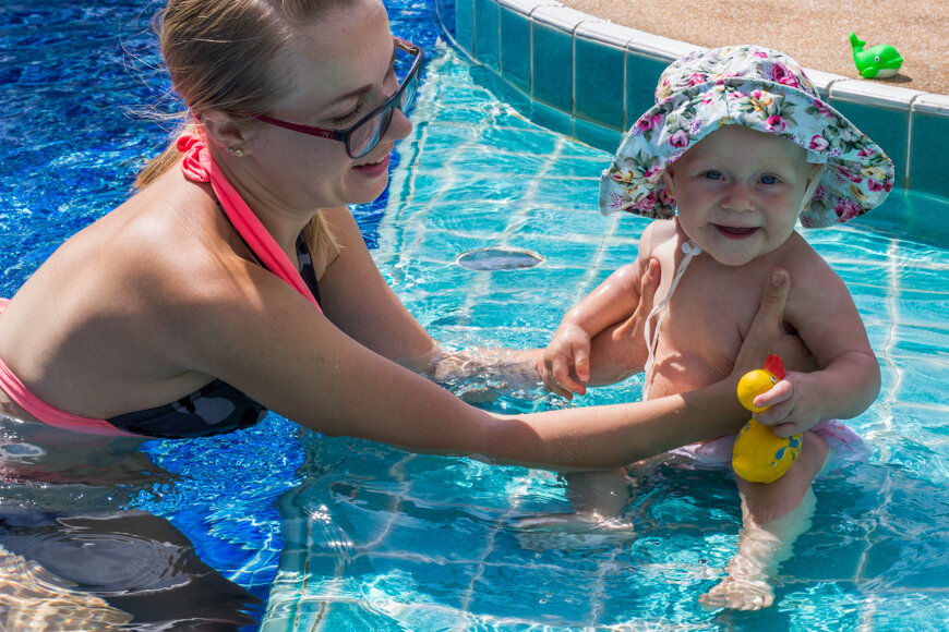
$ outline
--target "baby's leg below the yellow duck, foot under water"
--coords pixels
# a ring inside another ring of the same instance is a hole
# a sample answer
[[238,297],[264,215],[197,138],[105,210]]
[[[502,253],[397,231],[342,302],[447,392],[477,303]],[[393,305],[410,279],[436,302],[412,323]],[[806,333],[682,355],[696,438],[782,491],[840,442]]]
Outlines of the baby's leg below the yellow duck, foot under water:
[[778,481],[748,483],[737,477],[743,522],[738,552],[728,563],[729,575],[699,598],[704,605],[759,610],[773,603],[769,580],[791,557],[797,536],[810,528],[817,503],[810,483],[827,452],[824,439],[808,432],[797,460]]

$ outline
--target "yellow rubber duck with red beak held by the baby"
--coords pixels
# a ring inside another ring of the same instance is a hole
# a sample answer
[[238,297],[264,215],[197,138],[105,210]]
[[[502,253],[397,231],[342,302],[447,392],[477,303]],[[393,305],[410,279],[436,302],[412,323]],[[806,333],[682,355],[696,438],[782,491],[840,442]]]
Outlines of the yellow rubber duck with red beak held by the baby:
[[[738,401],[754,413],[767,410],[769,406],[756,406],[755,398],[771,390],[783,378],[784,363],[777,355],[768,356],[764,368],[748,372],[738,380]],[[773,483],[797,459],[801,441],[800,434],[782,439],[770,427],[750,418],[732,448],[732,469],[745,481]]]

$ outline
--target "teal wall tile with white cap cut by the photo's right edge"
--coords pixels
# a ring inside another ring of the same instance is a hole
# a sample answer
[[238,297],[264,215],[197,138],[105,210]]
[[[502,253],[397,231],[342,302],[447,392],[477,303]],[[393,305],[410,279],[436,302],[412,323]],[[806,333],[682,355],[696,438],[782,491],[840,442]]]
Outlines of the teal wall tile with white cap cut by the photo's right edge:
[[910,117],[910,187],[949,197],[949,96],[918,97]]

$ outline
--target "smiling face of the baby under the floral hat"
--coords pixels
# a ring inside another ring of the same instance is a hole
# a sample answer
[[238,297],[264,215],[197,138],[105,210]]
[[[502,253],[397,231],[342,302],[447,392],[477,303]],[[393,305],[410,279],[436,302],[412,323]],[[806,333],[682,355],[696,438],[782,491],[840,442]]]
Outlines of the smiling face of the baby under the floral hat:
[[790,141],[725,125],[666,168],[686,235],[717,262],[742,266],[794,230],[815,166]]

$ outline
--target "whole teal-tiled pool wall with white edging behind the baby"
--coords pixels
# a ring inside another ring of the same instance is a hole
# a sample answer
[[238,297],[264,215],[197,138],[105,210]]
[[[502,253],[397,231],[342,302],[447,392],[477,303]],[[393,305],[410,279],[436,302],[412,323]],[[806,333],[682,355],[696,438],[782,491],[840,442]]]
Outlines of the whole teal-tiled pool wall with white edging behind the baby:
[[[612,132],[652,107],[665,66],[702,49],[557,0],[437,1],[455,2],[454,40],[497,73],[502,98],[515,97],[512,105],[534,122],[608,151]],[[949,96],[805,70],[820,97],[892,158],[897,187],[949,196]]]

